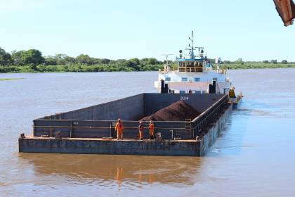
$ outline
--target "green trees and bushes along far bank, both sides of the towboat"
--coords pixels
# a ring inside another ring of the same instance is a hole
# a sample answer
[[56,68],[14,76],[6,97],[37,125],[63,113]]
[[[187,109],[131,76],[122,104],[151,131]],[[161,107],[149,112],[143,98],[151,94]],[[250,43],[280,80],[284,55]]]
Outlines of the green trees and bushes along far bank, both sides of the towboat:
[[[214,60],[210,60],[214,62]],[[41,51],[29,49],[27,51],[12,51],[8,53],[0,48],[0,72],[112,72],[112,71],[151,71],[164,67],[164,62],[156,58],[131,58],[129,60],[110,60],[107,58],[92,58],[81,54],[76,58],[65,54],[55,56],[42,56]],[[176,65],[175,62],[169,62]],[[294,62],[283,60],[278,63],[273,59],[270,61],[251,62],[223,61],[224,68],[249,69],[249,68],[291,68]]]

